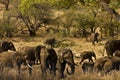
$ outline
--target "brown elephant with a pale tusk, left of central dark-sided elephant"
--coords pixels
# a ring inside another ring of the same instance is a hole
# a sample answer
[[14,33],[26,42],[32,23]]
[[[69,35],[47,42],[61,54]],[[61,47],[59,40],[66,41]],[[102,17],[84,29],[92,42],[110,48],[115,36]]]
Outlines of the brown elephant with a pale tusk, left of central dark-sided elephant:
[[24,53],[24,63],[29,67],[29,74],[32,74],[32,65],[38,64],[38,61],[41,62],[40,51],[43,47],[43,45],[37,45],[34,47],[25,46],[22,48],[22,52]]

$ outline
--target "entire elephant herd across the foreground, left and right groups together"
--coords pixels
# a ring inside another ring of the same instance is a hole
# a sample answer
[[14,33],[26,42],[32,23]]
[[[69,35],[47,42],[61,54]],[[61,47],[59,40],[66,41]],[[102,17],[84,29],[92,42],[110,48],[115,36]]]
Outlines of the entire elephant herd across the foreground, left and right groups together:
[[[119,70],[120,66],[120,40],[109,40],[104,46],[107,56],[96,58],[94,51],[83,51],[80,55],[80,66],[83,72]],[[8,50],[12,50],[8,52]],[[95,60],[92,59],[95,58]],[[88,61],[84,61],[88,59]],[[12,42],[3,41],[0,44],[0,69],[4,66],[14,67],[17,65],[18,72],[21,71],[21,65],[28,66],[29,74],[32,75],[33,65],[39,65],[42,76],[46,78],[47,71],[56,76],[64,78],[64,72],[69,75],[75,73],[74,54],[71,49],[47,48],[45,45],[25,46],[21,51],[16,51]],[[68,67],[70,67],[70,70]],[[66,69],[66,70],[65,70]]]

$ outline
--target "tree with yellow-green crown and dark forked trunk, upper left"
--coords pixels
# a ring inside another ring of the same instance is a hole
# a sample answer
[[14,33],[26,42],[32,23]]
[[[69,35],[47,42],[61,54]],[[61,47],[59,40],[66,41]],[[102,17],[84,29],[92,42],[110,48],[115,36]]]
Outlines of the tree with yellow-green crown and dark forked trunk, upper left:
[[[23,6],[25,4],[26,6]],[[39,27],[50,22],[52,11],[47,3],[32,3],[30,0],[22,0],[19,9],[21,11],[20,18],[26,24],[30,36],[35,36]]]

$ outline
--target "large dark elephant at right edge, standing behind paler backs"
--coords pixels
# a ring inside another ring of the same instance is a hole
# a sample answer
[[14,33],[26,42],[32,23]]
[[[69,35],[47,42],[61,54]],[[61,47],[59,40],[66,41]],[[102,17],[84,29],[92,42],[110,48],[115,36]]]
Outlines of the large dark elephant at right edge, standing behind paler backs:
[[113,57],[113,53],[116,50],[120,50],[120,40],[109,40],[105,43],[104,49],[106,50],[107,56]]

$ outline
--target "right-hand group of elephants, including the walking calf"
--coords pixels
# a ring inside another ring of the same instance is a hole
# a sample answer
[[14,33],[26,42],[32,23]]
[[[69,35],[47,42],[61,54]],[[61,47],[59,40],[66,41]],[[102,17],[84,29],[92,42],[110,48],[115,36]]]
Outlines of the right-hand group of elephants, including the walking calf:
[[[81,54],[81,62],[84,59],[89,59],[89,62],[83,62],[82,70],[83,72],[104,72],[109,73],[112,70],[119,70],[120,68],[120,40],[109,40],[105,43],[104,49],[106,50],[107,56],[96,59],[96,56],[93,52],[85,51]],[[92,58],[94,57],[96,60],[93,62]],[[80,62],[80,63],[81,63]]]

